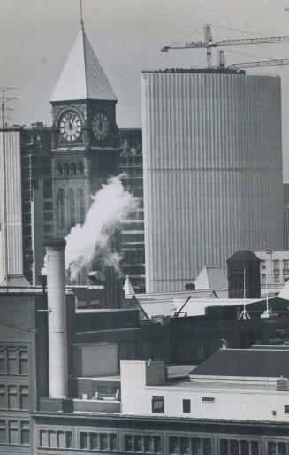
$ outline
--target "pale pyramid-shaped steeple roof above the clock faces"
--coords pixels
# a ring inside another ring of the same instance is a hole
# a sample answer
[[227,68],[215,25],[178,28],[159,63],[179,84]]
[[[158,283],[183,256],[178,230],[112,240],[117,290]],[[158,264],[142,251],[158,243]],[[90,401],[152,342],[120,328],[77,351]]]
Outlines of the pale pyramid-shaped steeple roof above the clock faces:
[[87,40],[82,19],[80,31],[58,77],[50,101],[78,99],[118,100],[103,67],[95,56],[95,51]]

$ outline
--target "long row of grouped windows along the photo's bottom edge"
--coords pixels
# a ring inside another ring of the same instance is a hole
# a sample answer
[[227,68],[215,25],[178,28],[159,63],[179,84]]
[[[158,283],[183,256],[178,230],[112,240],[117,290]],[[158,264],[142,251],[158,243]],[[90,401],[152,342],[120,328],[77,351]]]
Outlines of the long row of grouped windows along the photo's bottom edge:
[[[29,443],[29,422],[0,420],[0,442]],[[1,432],[5,428],[4,433]],[[17,431],[14,434],[14,431]],[[38,445],[43,448],[72,449],[72,430],[40,429]],[[260,455],[260,443],[254,438],[225,438],[218,442],[219,455]],[[80,431],[78,447],[84,451],[118,451],[118,434],[116,432]],[[161,435],[125,433],[124,451],[127,453],[164,453]],[[213,455],[214,447],[211,437],[168,436],[169,455]],[[289,440],[267,441],[268,455],[289,455]]]

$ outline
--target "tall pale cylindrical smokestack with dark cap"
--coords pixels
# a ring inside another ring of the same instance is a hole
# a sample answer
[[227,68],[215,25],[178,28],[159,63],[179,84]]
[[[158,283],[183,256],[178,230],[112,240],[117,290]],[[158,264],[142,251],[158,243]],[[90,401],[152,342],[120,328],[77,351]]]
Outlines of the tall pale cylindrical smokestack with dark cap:
[[49,396],[67,397],[65,239],[45,243],[49,307]]

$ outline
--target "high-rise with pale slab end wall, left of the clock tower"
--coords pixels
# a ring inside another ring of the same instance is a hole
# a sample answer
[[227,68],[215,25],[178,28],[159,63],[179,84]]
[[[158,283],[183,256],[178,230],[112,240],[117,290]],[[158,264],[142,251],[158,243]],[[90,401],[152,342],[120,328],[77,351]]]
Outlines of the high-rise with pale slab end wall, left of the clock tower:
[[53,230],[50,129],[42,123],[5,128],[0,151],[0,282],[35,284]]

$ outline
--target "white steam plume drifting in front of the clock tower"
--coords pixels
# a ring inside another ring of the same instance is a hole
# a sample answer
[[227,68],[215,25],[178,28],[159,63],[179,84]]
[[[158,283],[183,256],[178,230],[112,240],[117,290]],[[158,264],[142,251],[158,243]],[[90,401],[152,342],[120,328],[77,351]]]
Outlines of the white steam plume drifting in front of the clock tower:
[[74,226],[65,239],[65,268],[72,280],[94,258],[119,270],[121,255],[112,250],[111,237],[138,206],[137,198],[125,191],[121,175],[111,177],[92,201],[84,224]]

